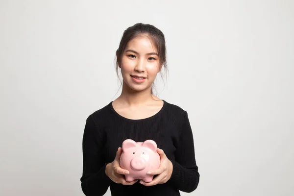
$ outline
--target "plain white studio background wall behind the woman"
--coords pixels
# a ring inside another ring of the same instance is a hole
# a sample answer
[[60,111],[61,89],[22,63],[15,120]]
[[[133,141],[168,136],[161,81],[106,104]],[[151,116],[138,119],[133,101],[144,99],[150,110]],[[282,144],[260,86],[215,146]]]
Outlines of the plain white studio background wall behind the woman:
[[159,97],[193,128],[200,182],[182,195],[293,196],[293,0],[1,0],[0,195],[83,196],[86,118],[120,95],[138,22],[164,32]]

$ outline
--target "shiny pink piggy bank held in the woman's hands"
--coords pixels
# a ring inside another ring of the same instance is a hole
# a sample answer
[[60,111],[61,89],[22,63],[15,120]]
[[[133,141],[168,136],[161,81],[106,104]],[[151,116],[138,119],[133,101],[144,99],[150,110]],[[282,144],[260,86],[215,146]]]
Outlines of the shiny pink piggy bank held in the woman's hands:
[[156,170],[160,166],[160,155],[157,152],[157,145],[153,140],[135,142],[133,140],[123,141],[123,152],[120,158],[120,166],[128,170],[125,180],[131,182],[135,179],[151,182],[153,175],[148,171]]

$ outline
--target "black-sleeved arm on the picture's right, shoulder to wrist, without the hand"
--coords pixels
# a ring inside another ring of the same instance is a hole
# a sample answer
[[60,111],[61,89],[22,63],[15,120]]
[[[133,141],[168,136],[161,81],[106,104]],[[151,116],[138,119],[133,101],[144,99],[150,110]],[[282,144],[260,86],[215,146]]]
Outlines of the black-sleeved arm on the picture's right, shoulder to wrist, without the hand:
[[179,142],[175,151],[175,161],[172,162],[172,176],[170,182],[178,190],[190,193],[199,183],[198,167],[195,160],[194,139],[188,114],[180,130]]

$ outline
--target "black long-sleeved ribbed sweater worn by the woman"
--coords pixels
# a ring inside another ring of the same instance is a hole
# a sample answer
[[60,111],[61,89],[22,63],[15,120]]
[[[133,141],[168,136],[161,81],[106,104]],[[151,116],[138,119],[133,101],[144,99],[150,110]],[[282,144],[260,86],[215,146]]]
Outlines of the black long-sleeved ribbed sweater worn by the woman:
[[[126,139],[154,140],[172,162],[170,180],[150,187],[139,181],[134,185],[113,182],[105,174],[105,167],[114,160],[118,147]],[[165,100],[157,114],[142,120],[124,118],[110,102],[87,118],[82,144],[83,174],[80,180],[86,196],[103,196],[108,187],[112,196],[179,196],[179,190],[190,193],[198,185],[199,173],[188,114]]]

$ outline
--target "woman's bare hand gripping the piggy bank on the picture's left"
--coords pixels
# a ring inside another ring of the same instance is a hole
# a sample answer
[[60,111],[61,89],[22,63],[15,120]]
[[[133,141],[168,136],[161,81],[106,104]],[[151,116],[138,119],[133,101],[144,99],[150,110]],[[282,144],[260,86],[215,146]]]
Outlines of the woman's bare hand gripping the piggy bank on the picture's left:
[[121,154],[122,154],[122,148],[119,147],[113,162],[106,165],[105,173],[112,181],[114,181],[117,184],[133,185],[138,180],[134,180],[132,182],[125,181],[124,174],[128,174],[129,171],[123,170],[120,167]]

